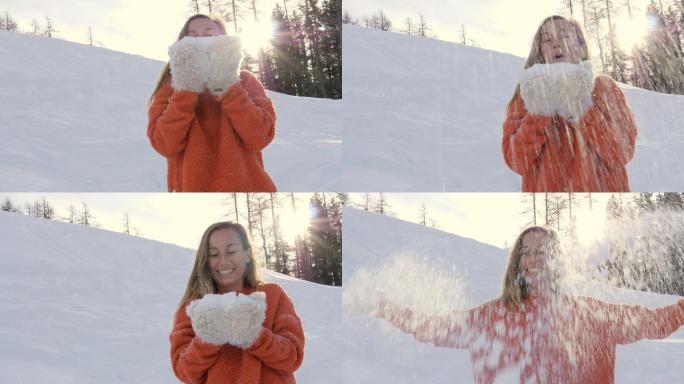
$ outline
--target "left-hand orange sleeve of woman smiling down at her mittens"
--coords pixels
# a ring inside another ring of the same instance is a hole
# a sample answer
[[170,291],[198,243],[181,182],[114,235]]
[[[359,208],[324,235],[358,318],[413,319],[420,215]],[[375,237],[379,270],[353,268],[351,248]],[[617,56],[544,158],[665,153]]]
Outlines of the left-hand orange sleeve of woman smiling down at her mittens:
[[192,321],[185,313],[185,306],[176,313],[170,341],[171,365],[176,377],[187,384],[204,383],[207,371],[216,362],[221,346],[208,344],[195,336]]

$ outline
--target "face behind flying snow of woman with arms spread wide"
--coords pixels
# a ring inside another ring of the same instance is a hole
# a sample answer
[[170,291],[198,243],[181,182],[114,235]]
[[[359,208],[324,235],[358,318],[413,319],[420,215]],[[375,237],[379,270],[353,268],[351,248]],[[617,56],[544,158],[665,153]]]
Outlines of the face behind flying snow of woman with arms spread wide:
[[532,231],[522,239],[520,273],[528,288],[542,290],[551,281],[551,247],[546,233]]

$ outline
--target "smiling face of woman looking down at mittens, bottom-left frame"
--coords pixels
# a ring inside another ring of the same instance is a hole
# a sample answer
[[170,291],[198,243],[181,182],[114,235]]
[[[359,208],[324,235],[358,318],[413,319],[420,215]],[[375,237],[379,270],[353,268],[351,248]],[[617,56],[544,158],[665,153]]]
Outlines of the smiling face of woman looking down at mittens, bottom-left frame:
[[219,293],[243,288],[244,274],[250,260],[240,235],[233,228],[217,229],[209,235],[208,267]]

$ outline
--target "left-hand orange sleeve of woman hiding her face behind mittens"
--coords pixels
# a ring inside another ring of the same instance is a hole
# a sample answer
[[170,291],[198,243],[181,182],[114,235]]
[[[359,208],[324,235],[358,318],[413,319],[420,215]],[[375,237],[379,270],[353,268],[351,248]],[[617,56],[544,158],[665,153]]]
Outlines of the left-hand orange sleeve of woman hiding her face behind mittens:
[[147,111],[147,137],[162,156],[174,157],[185,150],[198,100],[199,93],[174,90],[170,80],[154,94]]

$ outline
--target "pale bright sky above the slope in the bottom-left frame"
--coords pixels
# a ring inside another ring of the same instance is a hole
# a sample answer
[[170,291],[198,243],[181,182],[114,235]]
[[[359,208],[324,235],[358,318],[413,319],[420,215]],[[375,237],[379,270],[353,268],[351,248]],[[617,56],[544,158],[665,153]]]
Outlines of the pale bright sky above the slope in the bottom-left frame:
[[[290,196],[289,193],[279,195]],[[308,220],[306,208],[311,194],[294,195],[297,213],[290,212],[289,204],[280,211],[286,235],[292,235],[288,231],[304,230]],[[131,227],[139,228],[143,232],[142,237],[196,249],[209,225],[234,219],[224,216],[229,209],[222,202],[230,196],[228,193],[2,193],[0,200],[9,197],[15,205],[23,208],[24,203],[45,197],[58,217],[67,215],[70,204],[80,211],[81,203],[85,202],[95,222],[102,229],[115,232],[123,232],[123,215],[128,212]],[[238,204],[243,213],[242,196]],[[286,225],[285,222],[291,224]]]

